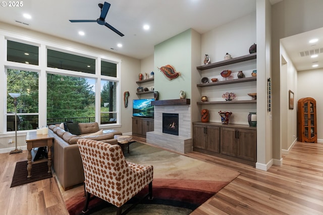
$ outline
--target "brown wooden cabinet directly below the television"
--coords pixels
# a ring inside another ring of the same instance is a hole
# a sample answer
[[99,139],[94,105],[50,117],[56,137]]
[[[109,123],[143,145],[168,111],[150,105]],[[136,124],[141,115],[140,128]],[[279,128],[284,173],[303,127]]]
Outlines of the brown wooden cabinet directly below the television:
[[146,138],[146,133],[153,131],[153,119],[152,118],[132,118],[132,135]]

